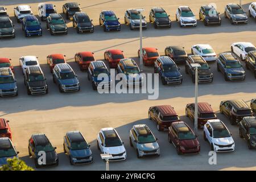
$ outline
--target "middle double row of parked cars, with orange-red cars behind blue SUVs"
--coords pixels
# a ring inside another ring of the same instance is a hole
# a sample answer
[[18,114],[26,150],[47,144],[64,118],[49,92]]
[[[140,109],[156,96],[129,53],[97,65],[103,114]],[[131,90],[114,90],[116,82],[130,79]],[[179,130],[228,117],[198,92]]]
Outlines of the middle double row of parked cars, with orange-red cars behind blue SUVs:
[[[223,73],[226,81],[245,80],[245,70],[240,60],[246,61],[246,69],[253,71],[256,77],[256,48],[248,42],[237,42],[231,45],[231,52],[220,53],[217,57],[213,48],[208,44],[196,44],[191,48],[192,55],[185,52],[184,47],[168,46],[164,50],[166,56],[160,56],[158,49],[144,47],[142,49],[142,60],[144,65],[154,65],[154,73],[159,73],[163,85],[181,84],[183,76],[177,64],[185,64],[185,73],[191,76],[195,82],[194,63],[200,64],[198,68],[198,82],[212,82],[213,73],[208,65],[209,61],[217,62],[217,71]],[[138,56],[140,56],[138,50]],[[240,57],[240,60],[239,58]],[[126,86],[142,86],[143,75],[137,63],[133,59],[125,58],[123,51],[110,49],[104,52],[104,59],[109,63],[110,68],[116,68],[117,73],[123,73],[122,81]],[[110,77],[108,67],[104,61],[96,61],[93,52],[77,52],[75,61],[81,70],[88,70],[88,80],[92,88],[112,88],[114,81]],[[20,67],[24,75],[24,84],[27,93],[46,94],[48,85],[46,77],[36,56],[22,56],[19,59]],[[52,73],[52,80],[59,87],[60,92],[73,92],[80,90],[80,82],[71,66],[67,64],[65,55],[52,54],[47,56],[47,64]],[[98,78],[101,73],[106,78]],[[10,59],[0,58],[0,96],[17,96],[18,88],[14,77],[14,68]]]

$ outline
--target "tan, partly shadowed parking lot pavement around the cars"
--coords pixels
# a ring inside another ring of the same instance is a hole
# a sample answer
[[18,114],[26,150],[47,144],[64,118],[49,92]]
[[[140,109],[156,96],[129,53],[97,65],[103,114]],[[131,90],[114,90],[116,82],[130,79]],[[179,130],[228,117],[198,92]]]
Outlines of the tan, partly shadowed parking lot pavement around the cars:
[[[219,113],[220,101],[242,99],[250,103],[256,97],[255,78],[252,72],[246,70],[245,81],[226,82],[224,76],[217,72],[216,63],[210,63],[214,74],[214,81],[209,84],[199,84],[199,101],[212,105],[217,117],[221,119],[232,132],[236,143],[236,150],[231,153],[217,154],[217,165],[208,164],[209,143],[203,139],[203,131],[199,130],[201,145],[200,154],[177,155],[175,147],[168,143],[167,133],[159,132],[156,126],[147,118],[148,107],[154,105],[172,105],[180,115],[182,121],[190,126],[193,122],[185,117],[185,106],[194,101],[195,86],[191,77],[185,74],[184,65],[178,65],[183,75],[182,85],[162,85],[159,83],[158,100],[147,100],[147,94],[99,94],[92,89],[87,80],[86,72],[81,72],[74,61],[76,52],[92,51],[97,60],[104,59],[107,49],[121,49],[126,57],[138,61],[139,31],[131,31],[129,26],[123,24],[123,16],[127,9],[144,8],[144,15],[148,21],[148,13],[152,7],[163,7],[171,16],[172,28],[154,29],[148,23],[147,30],[143,31],[143,46],[156,47],[160,55],[164,55],[164,48],[171,45],[180,45],[190,53],[193,44],[210,44],[216,53],[230,51],[234,42],[251,42],[256,45],[255,20],[249,18],[248,24],[230,24],[224,18],[224,7],[233,1],[216,0],[217,10],[221,13],[221,26],[205,27],[203,22],[197,20],[197,27],[180,28],[175,22],[175,12],[178,6],[189,5],[198,19],[199,8],[203,4],[212,3],[209,0],[88,0],[79,2],[82,11],[93,19],[94,32],[77,34],[68,21],[68,35],[51,36],[46,30],[46,23],[42,22],[43,36],[25,38],[20,24],[16,23],[13,7],[20,1],[0,1],[0,5],[7,8],[15,24],[16,38],[0,40],[1,57],[9,57],[14,65],[15,76],[19,89],[18,97],[0,98],[0,117],[10,120],[13,133],[13,142],[20,152],[20,159],[34,167],[34,161],[28,157],[28,138],[31,134],[45,133],[53,146],[57,147],[59,166],[42,168],[50,170],[104,170],[105,163],[97,150],[96,136],[102,127],[115,127],[121,139],[125,142],[127,160],[110,164],[113,170],[216,170],[216,169],[256,169],[256,151],[248,150],[247,144],[238,135],[238,127],[230,125],[229,120]],[[32,7],[37,14],[37,5],[41,1],[23,0],[23,4]],[[67,1],[47,1],[56,5],[58,13],[62,13],[62,5]],[[238,3],[239,1],[237,1]],[[251,1],[242,1],[246,9]],[[112,9],[120,18],[122,27],[118,32],[104,32],[98,25],[98,15],[101,10]],[[52,53],[63,53],[74,71],[77,73],[81,90],[77,93],[59,93],[52,82],[52,75],[46,63],[46,57]],[[35,55],[47,77],[49,93],[43,96],[27,96],[23,84],[22,70],[19,67],[19,57]],[[245,63],[243,62],[243,68]],[[153,73],[152,67],[144,67],[143,72]],[[147,124],[159,138],[161,155],[137,159],[134,148],[129,145],[129,130],[135,124]],[[193,126],[192,126],[193,127]],[[68,157],[63,153],[63,137],[67,131],[80,130],[91,144],[94,163],[82,166],[71,166]]]

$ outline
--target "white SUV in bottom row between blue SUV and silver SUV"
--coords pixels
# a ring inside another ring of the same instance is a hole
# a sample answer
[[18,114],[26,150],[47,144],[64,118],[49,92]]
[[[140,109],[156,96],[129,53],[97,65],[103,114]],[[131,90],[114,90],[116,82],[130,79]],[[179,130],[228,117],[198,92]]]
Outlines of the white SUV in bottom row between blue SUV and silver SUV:
[[100,130],[97,136],[97,147],[103,154],[112,155],[109,161],[126,159],[126,150],[123,142],[113,127]]

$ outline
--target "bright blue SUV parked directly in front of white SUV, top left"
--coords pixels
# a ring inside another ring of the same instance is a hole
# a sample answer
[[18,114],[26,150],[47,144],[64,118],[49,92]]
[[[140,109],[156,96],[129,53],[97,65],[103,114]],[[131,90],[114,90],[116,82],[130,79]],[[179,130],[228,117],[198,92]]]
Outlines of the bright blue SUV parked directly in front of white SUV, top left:
[[42,36],[43,34],[41,23],[39,23],[35,15],[27,15],[23,18],[22,30],[24,31],[25,36]]

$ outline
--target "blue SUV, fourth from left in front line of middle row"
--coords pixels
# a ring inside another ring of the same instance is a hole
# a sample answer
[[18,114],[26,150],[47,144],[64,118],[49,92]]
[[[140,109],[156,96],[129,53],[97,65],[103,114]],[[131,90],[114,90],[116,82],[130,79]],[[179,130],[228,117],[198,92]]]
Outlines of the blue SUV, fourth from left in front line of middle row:
[[[88,80],[92,81],[93,90],[97,90],[98,85],[100,83],[102,84],[102,87],[105,86],[105,88],[107,88],[107,87],[111,88],[112,80],[110,78],[110,73],[103,61],[90,62],[87,73],[88,73]],[[108,77],[99,79],[98,75],[100,75],[100,73],[105,73],[106,75],[108,75]],[[107,80],[107,81],[105,81],[105,80]]]

